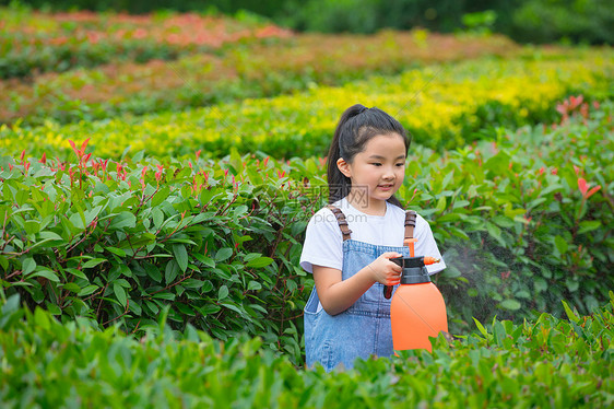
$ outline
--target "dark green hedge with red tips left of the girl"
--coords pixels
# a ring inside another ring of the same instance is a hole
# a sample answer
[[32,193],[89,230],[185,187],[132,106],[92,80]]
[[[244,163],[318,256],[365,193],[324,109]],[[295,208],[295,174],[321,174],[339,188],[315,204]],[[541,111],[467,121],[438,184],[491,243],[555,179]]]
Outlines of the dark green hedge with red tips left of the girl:
[[298,188],[319,172],[312,160],[128,165],[91,159],[86,143],[73,144],[76,163],[4,159],[2,287],[64,320],[123,317],[127,331],[169,304],[178,328],[258,334],[300,355],[292,319],[307,280],[296,237],[321,198]]

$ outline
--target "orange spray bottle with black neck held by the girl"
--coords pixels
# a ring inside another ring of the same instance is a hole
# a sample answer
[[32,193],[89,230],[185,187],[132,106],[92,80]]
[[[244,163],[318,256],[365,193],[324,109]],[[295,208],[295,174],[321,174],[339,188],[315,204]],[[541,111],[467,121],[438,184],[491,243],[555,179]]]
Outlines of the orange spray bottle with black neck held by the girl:
[[414,257],[415,238],[405,239],[411,257],[390,260],[403,267],[401,284],[390,302],[392,344],[394,350],[432,350],[428,337],[448,332],[444,296],[430,282],[426,265],[439,262],[433,257]]

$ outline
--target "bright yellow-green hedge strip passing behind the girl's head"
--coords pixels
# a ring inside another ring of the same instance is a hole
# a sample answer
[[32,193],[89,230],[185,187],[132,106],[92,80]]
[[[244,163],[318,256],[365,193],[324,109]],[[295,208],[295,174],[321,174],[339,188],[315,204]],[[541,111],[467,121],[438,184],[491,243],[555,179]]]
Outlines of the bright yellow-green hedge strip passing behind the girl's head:
[[127,148],[156,157],[200,149],[220,157],[232,148],[240,153],[262,150],[275,157],[323,155],[340,114],[356,102],[398,117],[417,143],[454,148],[482,138],[484,128],[552,121],[555,102],[578,90],[587,98],[605,97],[613,75],[609,55],[580,52],[564,66],[558,60],[480,59],[185,113],[69,126],[48,121],[33,129],[3,126],[0,149],[63,159],[70,154],[67,138],[86,135],[97,155],[113,159]]

